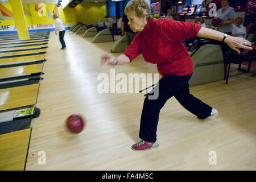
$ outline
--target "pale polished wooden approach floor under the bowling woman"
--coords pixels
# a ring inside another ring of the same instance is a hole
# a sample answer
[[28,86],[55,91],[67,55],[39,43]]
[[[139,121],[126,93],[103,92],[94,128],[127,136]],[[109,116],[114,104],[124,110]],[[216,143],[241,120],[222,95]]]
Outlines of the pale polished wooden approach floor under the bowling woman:
[[[218,109],[205,121],[171,98],[160,112],[159,147],[137,152],[143,94],[100,94],[100,73],[157,73],[156,65],[140,55],[130,64],[100,67],[101,53],[113,42],[92,43],[93,38],[65,34],[67,49],[60,50],[51,32],[40,82],[41,114],[32,119],[26,170],[255,170],[256,81],[250,73],[191,86],[191,93]],[[121,53],[115,53],[117,56]],[[235,65],[236,67],[237,65]],[[255,72],[255,69],[251,69]],[[86,119],[80,134],[69,133],[65,121],[71,114]],[[38,152],[46,164],[38,164]],[[217,164],[209,164],[209,152]]]

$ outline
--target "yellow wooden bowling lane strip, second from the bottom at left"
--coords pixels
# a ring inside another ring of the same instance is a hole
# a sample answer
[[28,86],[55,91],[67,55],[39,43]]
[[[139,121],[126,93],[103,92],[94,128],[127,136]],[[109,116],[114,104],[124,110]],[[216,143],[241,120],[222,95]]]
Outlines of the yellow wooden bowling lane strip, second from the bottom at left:
[[39,84],[0,89],[0,111],[36,104]]

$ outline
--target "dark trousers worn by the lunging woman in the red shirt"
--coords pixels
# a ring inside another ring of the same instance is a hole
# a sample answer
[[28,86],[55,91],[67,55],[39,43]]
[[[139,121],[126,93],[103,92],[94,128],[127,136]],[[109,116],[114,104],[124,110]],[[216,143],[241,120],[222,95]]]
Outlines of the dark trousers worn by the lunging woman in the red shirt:
[[197,118],[205,119],[210,115],[212,107],[189,93],[188,81],[191,76],[192,73],[187,76],[166,75],[159,80],[156,85],[158,88],[155,86],[148,94],[152,96],[158,89],[158,98],[152,100],[147,96],[144,100],[139,138],[147,142],[155,142],[160,110],[172,96]]

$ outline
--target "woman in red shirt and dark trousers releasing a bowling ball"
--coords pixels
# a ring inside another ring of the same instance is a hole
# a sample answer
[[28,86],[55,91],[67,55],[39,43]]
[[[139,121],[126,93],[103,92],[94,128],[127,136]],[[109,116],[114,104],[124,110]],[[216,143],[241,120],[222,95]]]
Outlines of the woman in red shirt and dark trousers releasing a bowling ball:
[[218,111],[189,93],[188,81],[192,76],[193,63],[181,40],[201,36],[223,41],[231,48],[251,49],[251,43],[243,38],[234,38],[222,32],[201,27],[196,23],[172,19],[152,19],[150,7],[144,0],[131,0],[125,7],[129,26],[138,32],[126,51],[114,57],[102,53],[101,64],[123,65],[130,63],[142,53],[144,60],[156,64],[162,75],[158,84],[144,99],[139,138],[132,150],[144,151],[158,147],[156,129],[159,113],[167,100],[175,97],[180,104],[199,119],[217,115]]

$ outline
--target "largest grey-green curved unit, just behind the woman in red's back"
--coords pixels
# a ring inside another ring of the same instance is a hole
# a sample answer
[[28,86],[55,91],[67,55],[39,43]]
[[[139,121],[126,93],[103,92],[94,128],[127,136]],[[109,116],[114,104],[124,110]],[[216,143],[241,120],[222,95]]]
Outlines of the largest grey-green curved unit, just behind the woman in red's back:
[[221,46],[203,44],[191,53],[193,75],[189,85],[199,85],[217,80],[225,76],[224,57]]

